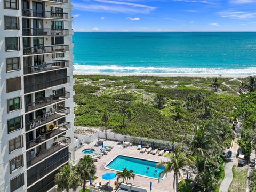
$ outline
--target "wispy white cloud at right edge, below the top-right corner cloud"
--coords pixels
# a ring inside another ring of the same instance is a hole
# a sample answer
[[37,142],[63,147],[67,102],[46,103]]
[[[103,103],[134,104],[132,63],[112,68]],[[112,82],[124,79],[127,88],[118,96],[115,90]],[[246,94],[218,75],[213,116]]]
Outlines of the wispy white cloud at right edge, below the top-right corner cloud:
[[219,12],[218,15],[225,18],[231,19],[251,19],[256,17],[256,12],[245,12],[245,11],[237,11],[237,10],[226,10]]

